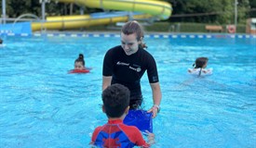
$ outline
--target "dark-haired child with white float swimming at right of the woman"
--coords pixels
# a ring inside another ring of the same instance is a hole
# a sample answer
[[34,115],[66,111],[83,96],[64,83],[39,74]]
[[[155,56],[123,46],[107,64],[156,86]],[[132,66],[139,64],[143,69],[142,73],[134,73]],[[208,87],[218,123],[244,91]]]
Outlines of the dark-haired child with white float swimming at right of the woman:
[[208,57],[198,57],[195,60],[195,64],[193,64],[194,68],[189,68],[188,72],[190,74],[195,74],[198,77],[201,75],[210,75],[212,74],[212,68],[207,69],[208,65]]

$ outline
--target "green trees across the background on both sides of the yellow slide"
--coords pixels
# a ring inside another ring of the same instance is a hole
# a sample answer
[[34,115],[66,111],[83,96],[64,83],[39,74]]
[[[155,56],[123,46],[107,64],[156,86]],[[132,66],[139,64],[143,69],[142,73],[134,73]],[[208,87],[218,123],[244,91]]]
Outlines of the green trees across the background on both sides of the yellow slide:
[[[39,0],[6,0],[7,16],[17,18],[21,14],[31,13],[41,17]],[[163,0],[172,4],[173,14],[169,21],[202,22],[216,24],[231,24],[235,21],[235,0]],[[246,19],[256,17],[256,0],[237,0],[238,23],[245,23]],[[2,3],[0,4],[0,6]],[[69,4],[47,3],[47,16],[79,14],[79,6]],[[86,13],[102,11],[101,9],[86,8]],[[1,6],[2,12],[2,6]]]

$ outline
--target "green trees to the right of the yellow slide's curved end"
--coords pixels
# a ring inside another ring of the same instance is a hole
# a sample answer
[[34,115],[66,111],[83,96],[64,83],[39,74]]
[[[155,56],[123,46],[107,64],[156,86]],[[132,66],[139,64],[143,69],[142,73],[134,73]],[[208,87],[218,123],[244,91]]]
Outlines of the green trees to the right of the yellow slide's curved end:
[[[166,0],[173,6],[171,21],[231,24],[235,21],[235,0]],[[256,0],[237,0],[237,19],[245,23]],[[182,16],[183,14],[183,16]],[[194,14],[194,15],[193,15]],[[178,16],[178,17],[175,17]],[[179,17],[181,16],[181,17]]]

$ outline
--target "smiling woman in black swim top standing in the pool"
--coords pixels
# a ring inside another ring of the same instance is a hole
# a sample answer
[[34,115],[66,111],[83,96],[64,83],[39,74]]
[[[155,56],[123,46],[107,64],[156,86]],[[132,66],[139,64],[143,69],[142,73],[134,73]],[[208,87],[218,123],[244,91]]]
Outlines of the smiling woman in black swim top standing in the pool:
[[104,56],[102,69],[102,90],[120,83],[130,91],[130,109],[137,109],[142,103],[141,77],[147,71],[152,89],[154,105],[148,110],[156,117],[160,111],[162,93],[154,57],[144,50],[144,31],[137,21],[128,21],[121,30],[121,45],[109,49]]

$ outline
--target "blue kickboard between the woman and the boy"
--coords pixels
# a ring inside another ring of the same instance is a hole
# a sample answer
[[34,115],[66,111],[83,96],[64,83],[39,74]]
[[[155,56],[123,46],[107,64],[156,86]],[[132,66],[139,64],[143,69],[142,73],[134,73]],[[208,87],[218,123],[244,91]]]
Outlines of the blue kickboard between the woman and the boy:
[[145,130],[153,132],[152,113],[147,113],[145,110],[129,110],[124,123],[137,127],[141,132],[145,132]]

